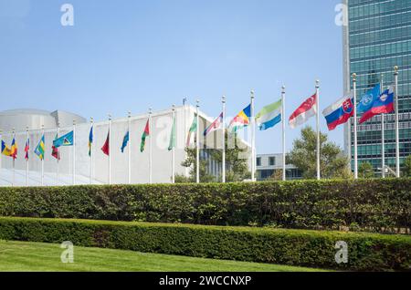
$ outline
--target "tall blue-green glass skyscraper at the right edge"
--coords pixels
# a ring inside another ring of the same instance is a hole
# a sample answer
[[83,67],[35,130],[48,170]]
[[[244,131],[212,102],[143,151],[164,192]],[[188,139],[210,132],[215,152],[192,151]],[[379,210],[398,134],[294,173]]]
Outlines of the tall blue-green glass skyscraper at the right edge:
[[[357,75],[357,101],[383,80],[394,85],[398,66],[400,163],[411,155],[411,0],[344,0],[348,26],[343,27],[344,90],[353,89]],[[360,116],[358,116],[360,118]],[[358,125],[358,164],[370,162],[380,173],[382,166],[381,116]],[[351,132],[350,132],[351,130]],[[352,156],[351,129],[344,128],[344,148]],[[395,115],[385,115],[385,165],[395,171]]]

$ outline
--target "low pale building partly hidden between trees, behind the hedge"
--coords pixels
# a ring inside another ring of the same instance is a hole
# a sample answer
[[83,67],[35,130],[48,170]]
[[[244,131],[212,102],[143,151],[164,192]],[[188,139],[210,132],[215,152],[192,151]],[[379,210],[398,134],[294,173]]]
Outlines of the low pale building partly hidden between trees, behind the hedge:
[[[257,180],[265,181],[273,177],[276,171],[282,170],[282,154],[257,155]],[[280,175],[281,176],[281,175]],[[292,164],[286,164],[287,180],[299,180],[302,172]]]

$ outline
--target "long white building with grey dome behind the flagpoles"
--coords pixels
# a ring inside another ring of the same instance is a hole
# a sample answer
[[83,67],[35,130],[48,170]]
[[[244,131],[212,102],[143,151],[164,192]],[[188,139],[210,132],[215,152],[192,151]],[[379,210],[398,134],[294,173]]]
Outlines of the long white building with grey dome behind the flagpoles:
[[[150,137],[146,140],[145,150],[141,152],[142,132],[145,128],[149,115],[133,116],[130,118],[130,142],[121,153],[121,144],[128,130],[129,119],[111,120],[111,184],[128,183],[129,176],[129,154],[131,150],[130,168],[131,183],[149,182],[149,149],[152,144],[152,182],[166,183],[172,181],[172,151],[168,150],[173,124],[173,109],[165,109],[153,112]],[[200,117],[200,146],[221,149],[222,131],[216,131],[206,140],[203,139],[203,131],[213,119],[199,112]],[[174,150],[175,173],[188,176],[189,169],[181,165],[185,160],[185,145],[193,119],[195,108],[192,106],[181,106],[175,108],[176,123],[176,147]],[[73,119],[75,126],[75,146],[60,147],[60,161],[51,155],[52,142],[57,134],[57,124],[60,123],[59,136],[73,130]],[[109,120],[94,123],[94,137],[92,146],[92,158],[89,156],[89,134],[90,122],[86,122],[77,115],[67,112],[56,111],[48,113],[39,110],[11,110],[0,113],[0,129],[3,133],[0,138],[10,146],[13,139],[11,129],[16,129],[16,142],[18,155],[13,165],[13,159],[1,155],[0,157],[0,185],[10,186],[12,184],[24,186],[27,182],[30,186],[41,185],[42,162],[34,153],[35,148],[42,136],[41,125],[45,125],[46,152],[44,159],[44,184],[45,185],[71,185],[75,172],[76,184],[107,184],[109,183],[109,157],[105,155],[101,147],[107,139],[109,131]],[[26,127],[29,128],[26,131]],[[25,144],[30,140],[29,160],[25,160]],[[194,137],[194,136],[193,136]],[[192,144],[194,140],[192,140]],[[243,143],[247,147],[247,143]],[[247,147],[248,148],[248,147]],[[75,154],[75,156],[73,156]],[[28,163],[28,164],[27,164]],[[75,171],[73,171],[75,164]],[[28,165],[28,171],[27,171]],[[221,164],[216,161],[208,161],[208,171],[216,177],[221,173]],[[90,178],[91,177],[91,178]]]

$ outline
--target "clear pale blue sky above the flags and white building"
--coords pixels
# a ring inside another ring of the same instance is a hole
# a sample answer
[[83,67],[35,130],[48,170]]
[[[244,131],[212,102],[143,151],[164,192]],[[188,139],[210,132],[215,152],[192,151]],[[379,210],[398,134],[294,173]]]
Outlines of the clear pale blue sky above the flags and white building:
[[[74,26],[60,24],[65,3],[74,6]],[[101,120],[187,97],[218,116],[226,95],[234,116],[251,88],[258,110],[285,84],[288,118],[319,78],[322,110],[342,97],[339,3],[0,0],[0,109],[64,109]],[[280,134],[280,126],[258,132],[258,153],[280,152]],[[287,134],[290,149],[300,129]],[[330,138],[342,146],[342,127]]]

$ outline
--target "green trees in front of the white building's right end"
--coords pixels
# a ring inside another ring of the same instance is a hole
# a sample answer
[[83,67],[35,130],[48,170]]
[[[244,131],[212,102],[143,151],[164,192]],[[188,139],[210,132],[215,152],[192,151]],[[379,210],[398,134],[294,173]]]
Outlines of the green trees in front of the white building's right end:
[[[230,137],[234,137],[231,135]],[[248,171],[248,160],[241,158],[241,154],[245,153],[247,149],[241,149],[238,147],[238,140],[237,137],[234,137],[235,141],[232,142],[233,144],[228,143],[228,134],[226,132],[226,181],[227,182],[234,182],[234,181],[244,181],[250,178],[251,173]],[[230,145],[230,146],[229,146]],[[234,148],[231,148],[234,147]],[[223,154],[222,150],[215,150],[215,149],[201,149],[206,150],[208,156],[211,156],[215,161],[222,162],[223,161]],[[176,181],[181,182],[195,182],[196,177],[196,150],[195,148],[185,148],[185,152],[187,153],[187,157],[185,161],[182,162],[182,166],[190,168],[190,177],[184,179],[184,176],[179,176]],[[212,176],[207,173],[206,171],[207,161],[201,160],[200,161],[200,182],[211,182],[216,181],[216,177]],[[219,177],[221,180],[221,176]]]

